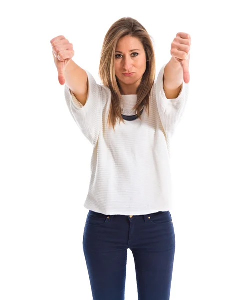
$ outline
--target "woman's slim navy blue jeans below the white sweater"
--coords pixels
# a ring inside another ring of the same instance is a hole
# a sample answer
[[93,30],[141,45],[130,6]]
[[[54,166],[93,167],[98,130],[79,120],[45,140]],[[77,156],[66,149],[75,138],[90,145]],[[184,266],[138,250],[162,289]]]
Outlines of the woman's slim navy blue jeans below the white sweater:
[[93,300],[124,300],[127,249],[135,262],[138,300],[169,300],[175,234],[169,210],[140,215],[89,210],[83,251]]

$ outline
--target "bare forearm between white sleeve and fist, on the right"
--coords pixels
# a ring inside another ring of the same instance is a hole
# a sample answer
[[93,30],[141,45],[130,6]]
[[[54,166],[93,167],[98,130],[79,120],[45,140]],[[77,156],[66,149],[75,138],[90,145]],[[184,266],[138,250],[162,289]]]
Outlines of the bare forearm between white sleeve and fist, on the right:
[[179,61],[171,57],[164,68],[163,88],[168,99],[177,98],[182,87],[183,70]]

